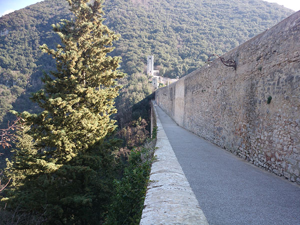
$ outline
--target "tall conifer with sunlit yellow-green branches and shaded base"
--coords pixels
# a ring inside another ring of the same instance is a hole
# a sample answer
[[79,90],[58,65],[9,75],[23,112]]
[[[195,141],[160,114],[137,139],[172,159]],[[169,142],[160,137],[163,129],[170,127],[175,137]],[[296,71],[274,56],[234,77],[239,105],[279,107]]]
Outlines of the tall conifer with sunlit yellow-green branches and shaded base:
[[[26,212],[44,213],[49,224],[100,223],[107,210],[115,129],[110,115],[122,76],[119,57],[108,56],[118,38],[102,24],[102,0],[67,0],[73,18],[52,25],[60,36],[57,71],[45,74],[32,100],[43,109],[23,112],[15,155],[6,173],[13,183],[2,200]],[[97,222],[95,222],[97,221]]]

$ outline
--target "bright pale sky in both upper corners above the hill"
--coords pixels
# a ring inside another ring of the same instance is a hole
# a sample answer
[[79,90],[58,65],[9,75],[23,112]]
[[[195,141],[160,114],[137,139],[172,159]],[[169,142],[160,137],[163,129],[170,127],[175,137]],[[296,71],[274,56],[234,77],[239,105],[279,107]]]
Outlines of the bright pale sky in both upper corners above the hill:
[[[41,0],[0,0],[0,16],[8,14],[14,10],[24,8],[27,5],[34,4]],[[286,8],[294,11],[300,10],[300,0],[266,0],[268,2],[276,2]]]

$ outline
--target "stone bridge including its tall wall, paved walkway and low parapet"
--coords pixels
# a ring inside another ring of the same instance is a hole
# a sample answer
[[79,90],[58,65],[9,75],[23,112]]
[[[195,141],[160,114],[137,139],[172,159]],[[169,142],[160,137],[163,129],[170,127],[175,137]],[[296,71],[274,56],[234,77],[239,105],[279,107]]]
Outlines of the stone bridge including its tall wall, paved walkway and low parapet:
[[141,224],[300,221],[300,11],[222,56],[236,70],[217,58],[155,92],[170,133],[158,145],[169,144],[158,146]]

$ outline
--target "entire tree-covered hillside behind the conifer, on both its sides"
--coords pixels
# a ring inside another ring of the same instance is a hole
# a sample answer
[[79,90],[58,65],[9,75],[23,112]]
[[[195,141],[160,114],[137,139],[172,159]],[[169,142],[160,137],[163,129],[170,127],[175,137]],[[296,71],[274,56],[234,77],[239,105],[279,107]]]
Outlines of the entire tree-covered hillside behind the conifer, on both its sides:
[[[222,54],[271,27],[293,11],[262,0],[106,0],[109,28],[121,35],[112,56],[122,56],[120,69],[128,73],[120,97],[136,103],[150,89],[141,73],[146,56],[163,76],[183,76],[203,65],[212,53]],[[43,71],[54,69],[54,59],[39,45],[55,47],[59,38],[51,24],[70,13],[63,0],[44,0],[0,17],[0,120],[6,112],[37,110],[29,92],[41,87]],[[139,77],[139,78],[131,78]],[[136,97],[134,97],[136,96]],[[134,99],[132,99],[134,98]]]

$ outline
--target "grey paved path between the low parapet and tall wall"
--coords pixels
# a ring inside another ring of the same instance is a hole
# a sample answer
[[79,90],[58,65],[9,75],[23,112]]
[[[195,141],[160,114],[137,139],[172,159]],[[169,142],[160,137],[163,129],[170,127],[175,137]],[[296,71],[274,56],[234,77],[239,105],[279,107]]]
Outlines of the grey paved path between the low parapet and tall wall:
[[178,126],[155,106],[209,224],[300,224],[300,186]]

